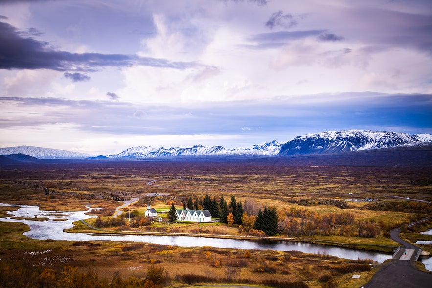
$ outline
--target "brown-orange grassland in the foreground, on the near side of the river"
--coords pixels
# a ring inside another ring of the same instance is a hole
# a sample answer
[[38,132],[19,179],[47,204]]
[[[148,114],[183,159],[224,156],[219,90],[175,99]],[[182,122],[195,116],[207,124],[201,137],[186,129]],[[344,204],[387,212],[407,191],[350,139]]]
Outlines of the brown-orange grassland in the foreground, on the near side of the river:
[[[176,279],[185,274],[211,275],[215,281],[221,281],[234,270],[230,277],[240,282],[244,279],[246,283],[259,284],[277,275],[279,281],[302,281],[309,287],[321,287],[317,279],[323,275],[329,276],[326,282],[342,283],[347,280],[344,270],[347,267],[369,268],[363,262],[300,252],[183,248],[114,241],[40,241],[23,236],[27,229],[24,224],[0,222],[3,263],[25,261],[54,270],[72,265],[83,272],[91,269],[106,280],[111,280],[113,271],[119,271],[124,279],[144,278],[147,268],[155,264],[164,267],[172,284],[180,282]],[[361,274],[357,284],[365,283],[371,276],[368,271]]]

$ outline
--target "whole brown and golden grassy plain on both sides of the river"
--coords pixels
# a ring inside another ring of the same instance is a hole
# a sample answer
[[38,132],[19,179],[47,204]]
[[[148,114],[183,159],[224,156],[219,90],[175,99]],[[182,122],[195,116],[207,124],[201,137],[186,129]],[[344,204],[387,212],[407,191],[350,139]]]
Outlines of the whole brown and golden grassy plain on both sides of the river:
[[[350,214],[355,224],[373,223],[379,229],[378,235],[371,238],[338,234],[296,237],[322,244],[355,245],[357,249],[388,252],[391,247],[397,246],[388,237],[390,229],[431,214],[431,204],[410,200],[432,200],[431,170],[408,167],[297,167],[268,161],[118,161],[4,166],[0,170],[0,202],[40,205],[43,210],[59,211],[85,210],[86,206],[103,208],[105,214],[99,215],[109,219],[122,200],[135,197],[139,200],[124,211],[137,210],[142,216],[147,204],[161,212],[168,210],[171,202],[182,208],[182,203],[189,197],[200,199],[207,193],[216,198],[223,195],[229,203],[231,195],[234,195],[237,201],[245,203],[253,200],[260,208],[273,206],[278,211],[307,210],[307,214],[314,215],[314,219],[332,213]],[[156,182],[148,185],[151,180]],[[374,201],[367,202],[366,198]],[[5,209],[0,207],[0,217],[4,216]],[[166,214],[160,216],[166,217]],[[96,218],[86,221],[96,224]],[[82,222],[74,224],[71,232],[97,232]],[[421,229],[431,226],[431,222],[427,222]],[[20,223],[0,222],[0,259],[3,264],[24,261],[60,274],[63,267],[72,265],[83,273],[89,269],[97,272],[99,278],[107,283],[118,274],[123,279],[145,278],[147,269],[155,265],[164,269],[169,285],[184,284],[184,277],[194,274],[211,275],[216,282],[224,283],[229,278],[235,283],[259,287],[263,286],[263,281],[277,276],[280,281],[301,282],[311,288],[354,288],[367,283],[379,268],[379,265],[374,265],[369,270],[368,263],[298,252],[183,248],[112,241],[39,241],[23,236],[27,229]],[[223,234],[232,237],[248,235],[237,226],[220,222],[170,225],[155,222],[150,227],[107,226],[102,230],[116,233],[131,230]],[[410,241],[430,240],[429,236],[416,232],[404,231],[403,236]],[[278,237],[287,236],[281,232]],[[360,279],[352,279],[354,273],[360,274]]]

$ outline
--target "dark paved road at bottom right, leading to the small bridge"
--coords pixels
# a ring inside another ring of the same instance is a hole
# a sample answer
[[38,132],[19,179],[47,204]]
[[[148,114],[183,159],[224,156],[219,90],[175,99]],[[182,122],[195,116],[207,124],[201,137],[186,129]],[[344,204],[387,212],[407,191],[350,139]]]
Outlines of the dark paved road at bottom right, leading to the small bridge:
[[402,244],[407,251],[400,249],[389,263],[385,264],[364,288],[431,288],[432,273],[423,272],[415,267],[415,256],[419,247],[399,238],[400,229],[390,232],[394,241]]

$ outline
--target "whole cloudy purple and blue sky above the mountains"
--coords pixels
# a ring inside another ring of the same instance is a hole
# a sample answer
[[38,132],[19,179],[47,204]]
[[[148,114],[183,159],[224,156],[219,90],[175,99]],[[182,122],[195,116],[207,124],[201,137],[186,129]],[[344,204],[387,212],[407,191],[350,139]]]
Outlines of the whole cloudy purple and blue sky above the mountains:
[[430,0],[0,0],[0,147],[432,134]]

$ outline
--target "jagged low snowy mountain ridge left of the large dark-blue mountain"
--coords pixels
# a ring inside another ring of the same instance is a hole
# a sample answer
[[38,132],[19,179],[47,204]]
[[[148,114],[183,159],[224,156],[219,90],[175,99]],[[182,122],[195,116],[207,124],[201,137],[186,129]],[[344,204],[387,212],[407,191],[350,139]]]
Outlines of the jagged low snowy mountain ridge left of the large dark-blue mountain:
[[253,145],[250,148],[232,148],[228,149],[223,146],[203,146],[195,145],[193,147],[171,147],[171,148],[152,148],[148,146],[138,146],[126,149],[112,158],[155,158],[155,157],[172,157],[172,156],[209,156],[209,155],[231,155],[231,156],[272,156],[279,153],[281,143],[272,141],[263,145]]

